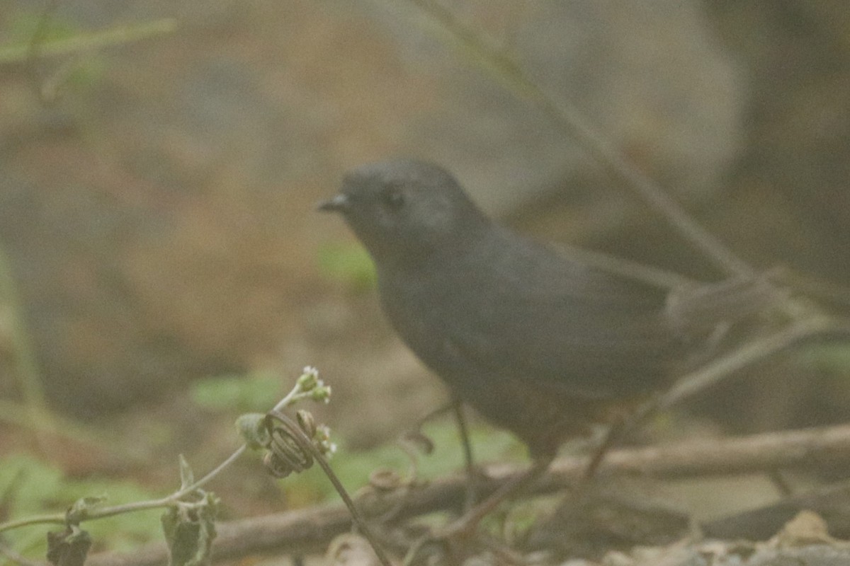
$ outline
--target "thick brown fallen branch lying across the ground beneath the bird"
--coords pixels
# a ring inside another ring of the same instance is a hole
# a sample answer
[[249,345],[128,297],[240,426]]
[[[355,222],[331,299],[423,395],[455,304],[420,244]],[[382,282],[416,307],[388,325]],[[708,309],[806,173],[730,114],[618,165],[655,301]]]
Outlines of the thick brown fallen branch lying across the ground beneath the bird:
[[[604,474],[648,474],[658,478],[683,478],[717,474],[745,474],[775,468],[817,467],[850,463],[850,425],[824,429],[754,434],[732,439],[690,440],[666,446],[618,450],[599,467]],[[531,488],[546,493],[574,485],[587,467],[585,457],[559,458]],[[483,494],[498,489],[524,468],[490,466],[488,479],[479,482]],[[386,505],[399,503],[396,519],[441,509],[456,508],[466,489],[466,475],[455,474],[413,490],[382,496]],[[398,502],[393,502],[393,499]],[[362,504],[364,500],[359,502]],[[384,503],[382,503],[383,505]],[[364,506],[367,507],[367,506]],[[218,524],[213,556],[228,559],[256,552],[305,552],[326,546],[332,537],[348,530],[351,516],[343,505],[313,507],[290,513],[248,518]],[[132,555],[104,553],[88,559],[88,566],[158,566],[167,559],[165,546],[144,546]]]

